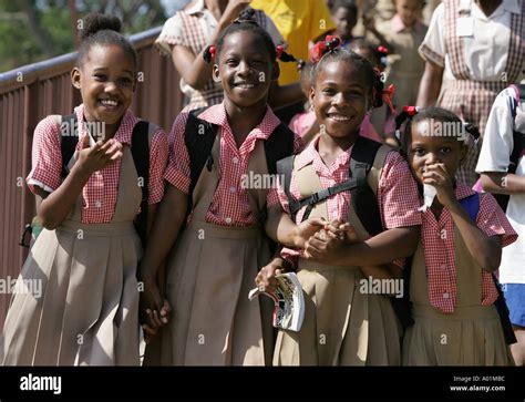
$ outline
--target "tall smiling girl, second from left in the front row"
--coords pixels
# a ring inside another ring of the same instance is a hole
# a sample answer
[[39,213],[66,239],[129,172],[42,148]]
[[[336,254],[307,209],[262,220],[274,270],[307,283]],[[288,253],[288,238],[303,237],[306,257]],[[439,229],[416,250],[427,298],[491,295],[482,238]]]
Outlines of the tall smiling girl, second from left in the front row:
[[[268,174],[269,155],[275,155],[275,165],[300,144],[267,105],[271,82],[279,75],[277,55],[268,33],[249,14],[236,20],[206,51],[206,58],[214,59],[213,78],[222,82],[224,102],[196,120],[182,113],[173,125],[166,196],[140,270],[147,322],[164,326],[146,349],[146,364],[271,361],[271,312],[265,315],[259,300],[248,300],[253,278],[270,257],[258,225],[269,188],[241,183],[246,175]],[[205,127],[216,132],[208,136]],[[188,138],[187,131],[195,135]],[[267,148],[276,137],[284,145],[272,148],[277,154]],[[205,138],[213,143],[210,151],[192,153],[188,146]],[[207,163],[194,175],[198,157]],[[156,278],[166,257],[164,289]],[[173,307],[169,321],[162,309],[164,293]]]

